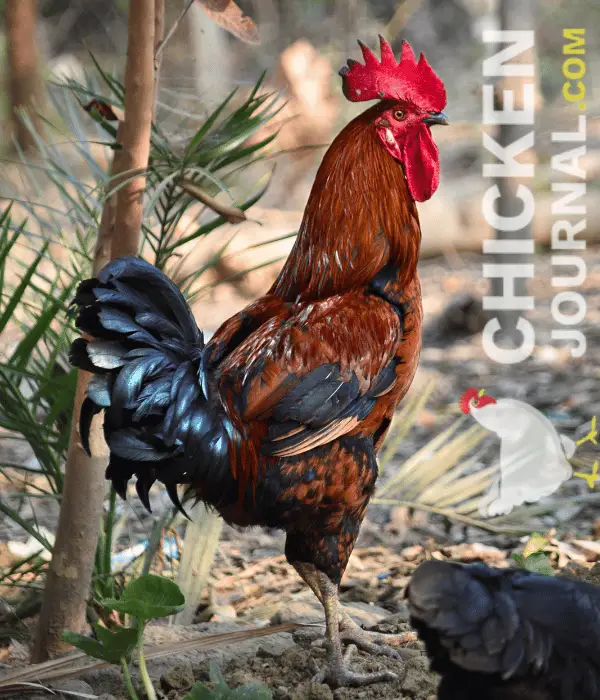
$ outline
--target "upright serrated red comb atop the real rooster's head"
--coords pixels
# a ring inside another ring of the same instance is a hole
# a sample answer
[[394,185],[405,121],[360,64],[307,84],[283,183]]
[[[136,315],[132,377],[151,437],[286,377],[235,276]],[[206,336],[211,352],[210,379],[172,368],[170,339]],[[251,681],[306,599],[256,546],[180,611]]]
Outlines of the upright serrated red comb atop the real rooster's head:
[[365,65],[348,59],[340,70],[344,95],[351,102],[377,99],[403,99],[427,112],[441,112],[446,106],[444,83],[433,72],[423,54],[417,62],[407,41],[402,42],[400,61],[396,63],[392,47],[380,36],[381,61],[371,49],[358,42]]

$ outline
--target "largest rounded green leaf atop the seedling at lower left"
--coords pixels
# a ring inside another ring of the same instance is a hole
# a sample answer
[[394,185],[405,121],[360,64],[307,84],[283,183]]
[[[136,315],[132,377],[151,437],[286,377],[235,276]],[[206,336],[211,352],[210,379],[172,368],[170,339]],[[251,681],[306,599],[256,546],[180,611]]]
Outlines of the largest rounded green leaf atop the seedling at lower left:
[[106,598],[101,602],[109,610],[144,621],[174,615],[185,607],[185,598],[179,586],[154,574],[144,574],[128,583],[119,600]]

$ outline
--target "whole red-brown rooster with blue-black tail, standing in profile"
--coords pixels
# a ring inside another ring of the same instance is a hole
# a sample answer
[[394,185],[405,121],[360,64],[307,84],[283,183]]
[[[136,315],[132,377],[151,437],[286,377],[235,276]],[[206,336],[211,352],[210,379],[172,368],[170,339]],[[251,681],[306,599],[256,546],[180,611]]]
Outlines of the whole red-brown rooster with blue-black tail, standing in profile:
[[[104,411],[106,476],[140,499],[177,485],[228,523],[286,532],[285,554],[325,611],[334,687],[389,680],[353,672],[342,642],[399,658],[340,609],[340,579],[377,479],[376,454],[415,374],[421,345],[421,241],[415,201],[438,186],[431,126],[446,124],[444,86],[404,43],[400,60],[341,71],[354,102],[377,102],[334,139],[298,238],[267,294],[204,344],[177,287],[121,258],[77,292],[87,338],[71,362],[94,377],[80,435]],[[88,338],[91,338],[88,339]],[[398,640],[396,640],[398,641]]]

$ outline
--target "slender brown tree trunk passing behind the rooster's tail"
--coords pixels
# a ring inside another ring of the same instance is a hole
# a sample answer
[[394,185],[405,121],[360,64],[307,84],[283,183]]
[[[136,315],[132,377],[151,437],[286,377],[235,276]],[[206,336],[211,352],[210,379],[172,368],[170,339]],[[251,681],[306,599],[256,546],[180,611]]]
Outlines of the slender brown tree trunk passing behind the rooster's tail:
[[[22,0],[19,0],[22,1]],[[139,173],[110,197],[104,206],[94,273],[122,255],[136,255],[140,243],[143,193],[148,165],[154,101],[155,2],[131,0],[125,68],[125,119],[119,125],[122,148],[115,151],[109,186]],[[60,635],[65,629],[85,628],[85,607],[89,595],[94,556],[98,544],[104,502],[104,469],[107,450],[97,417],[91,431],[93,457],[79,442],[79,412],[89,374],[80,372],[73,412],[73,426],[56,543],[32,653],[33,662],[44,661],[66,648]]]

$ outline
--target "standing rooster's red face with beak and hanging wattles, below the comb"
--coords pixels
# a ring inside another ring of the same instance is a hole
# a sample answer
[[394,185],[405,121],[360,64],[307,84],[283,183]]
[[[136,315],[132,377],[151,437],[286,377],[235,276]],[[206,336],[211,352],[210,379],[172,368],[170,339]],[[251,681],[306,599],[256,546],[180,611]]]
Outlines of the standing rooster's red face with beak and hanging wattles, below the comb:
[[428,112],[410,102],[396,100],[375,121],[377,134],[387,152],[404,166],[410,193],[424,202],[440,181],[440,161],[430,127],[447,124],[443,112]]

